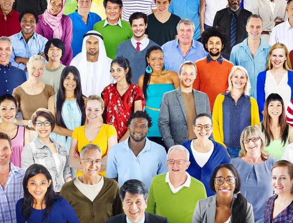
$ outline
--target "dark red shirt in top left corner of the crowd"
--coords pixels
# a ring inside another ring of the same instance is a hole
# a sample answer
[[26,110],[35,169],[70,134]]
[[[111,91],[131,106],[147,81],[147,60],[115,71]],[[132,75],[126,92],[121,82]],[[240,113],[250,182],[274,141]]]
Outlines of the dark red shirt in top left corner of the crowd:
[[0,37],[10,37],[21,32],[21,23],[19,22],[20,14],[12,9],[7,15],[7,20],[4,19],[4,14],[0,10]]

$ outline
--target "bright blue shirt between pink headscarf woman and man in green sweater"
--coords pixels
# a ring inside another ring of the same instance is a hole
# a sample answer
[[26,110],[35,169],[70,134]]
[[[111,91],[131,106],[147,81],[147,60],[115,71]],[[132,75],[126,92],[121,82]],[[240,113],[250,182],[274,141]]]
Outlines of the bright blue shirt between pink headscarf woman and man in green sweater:
[[93,12],[88,13],[87,24],[82,19],[82,16],[77,13],[77,10],[74,13],[68,15],[72,20],[72,42],[71,47],[73,50],[73,57],[82,52],[84,34],[88,31],[93,30],[94,24],[101,21],[101,17]]

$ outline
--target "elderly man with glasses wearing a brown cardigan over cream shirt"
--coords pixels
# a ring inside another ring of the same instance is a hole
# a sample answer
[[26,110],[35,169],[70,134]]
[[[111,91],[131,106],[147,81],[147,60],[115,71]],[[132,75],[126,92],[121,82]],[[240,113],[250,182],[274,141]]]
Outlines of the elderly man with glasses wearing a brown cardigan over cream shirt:
[[101,161],[100,147],[95,144],[84,146],[80,152],[84,174],[65,183],[60,191],[81,223],[104,223],[112,216],[123,213],[118,183],[98,174]]

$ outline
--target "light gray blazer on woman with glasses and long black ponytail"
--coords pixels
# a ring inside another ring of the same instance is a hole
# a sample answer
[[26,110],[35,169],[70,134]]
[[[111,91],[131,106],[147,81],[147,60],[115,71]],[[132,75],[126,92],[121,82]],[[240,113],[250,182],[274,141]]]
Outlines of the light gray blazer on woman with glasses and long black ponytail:
[[[233,197],[232,205],[236,197]],[[200,200],[195,207],[192,223],[214,223],[216,216],[216,195]],[[246,223],[254,223],[252,205],[247,203]]]

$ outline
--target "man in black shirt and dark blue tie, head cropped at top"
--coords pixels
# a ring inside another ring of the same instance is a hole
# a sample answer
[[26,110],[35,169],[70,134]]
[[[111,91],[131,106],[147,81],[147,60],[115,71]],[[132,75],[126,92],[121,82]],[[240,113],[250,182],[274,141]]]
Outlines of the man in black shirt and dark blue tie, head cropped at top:
[[213,21],[213,26],[222,27],[228,36],[227,45],[222,52],[222,56],[226,59],[230,58],[233,46],[247,37],[245,25],[247,19],[252,15],[250,11],[240,8],[241,0],[228,0],[228,4],[228,8],[216,13]]

